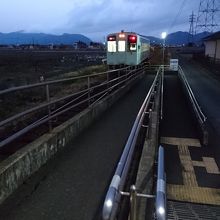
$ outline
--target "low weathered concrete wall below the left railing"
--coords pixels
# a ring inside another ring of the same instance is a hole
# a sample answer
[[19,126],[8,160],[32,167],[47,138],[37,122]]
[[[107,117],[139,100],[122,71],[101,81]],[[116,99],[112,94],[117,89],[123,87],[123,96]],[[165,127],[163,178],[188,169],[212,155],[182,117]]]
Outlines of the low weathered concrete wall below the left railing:
[[4,160],[0,164],[0,204],[30,175],[131,89],[142,76],[143,74],[139,75],[129,85],[121,87],[99,103],[54,128],[51,133],[41,136]]

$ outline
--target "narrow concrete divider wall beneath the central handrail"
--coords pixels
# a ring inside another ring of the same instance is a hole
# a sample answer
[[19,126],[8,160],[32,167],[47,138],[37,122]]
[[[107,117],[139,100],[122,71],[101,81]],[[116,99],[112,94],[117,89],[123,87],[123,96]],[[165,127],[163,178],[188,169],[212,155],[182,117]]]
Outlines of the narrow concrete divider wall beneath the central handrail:
[[[160,88],[158,89],[160,91]],[[160,116],[160,93],[157,92],[155,108],[149,120],[149,133],[145,138],[144,147],[139,163],[136,178],[136,188],[138,193],[152,194],[154,178],[154,161],[158,149],[159,116]],[[153,219],[154,199],[137,199],[137,220]],[[150,208],[149,208],[150,207]],[[148,208],[148,209],[147,209]]]

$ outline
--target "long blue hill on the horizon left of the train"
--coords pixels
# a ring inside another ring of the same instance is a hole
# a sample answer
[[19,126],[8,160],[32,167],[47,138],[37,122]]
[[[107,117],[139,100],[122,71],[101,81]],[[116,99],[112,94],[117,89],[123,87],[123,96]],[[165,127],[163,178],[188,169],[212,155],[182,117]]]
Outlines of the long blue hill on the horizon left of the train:
[[73,44],[82,41],[90,44],[91,40],[81,34],[44,34],[44,33],[0,33],[0,44]]

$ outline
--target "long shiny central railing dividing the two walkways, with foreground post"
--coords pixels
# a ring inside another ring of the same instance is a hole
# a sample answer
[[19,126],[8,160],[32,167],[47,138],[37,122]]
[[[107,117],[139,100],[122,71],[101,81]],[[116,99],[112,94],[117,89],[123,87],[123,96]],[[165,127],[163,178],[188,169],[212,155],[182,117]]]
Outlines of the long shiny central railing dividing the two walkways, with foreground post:
[[104,205],[103,205],[103,210],[102,210],[102,218],[104,220],[115,219],[117,212],[118,212],[118,206],[121,201],[121,196],[130,196],[130,201],[131,201],[130,219],[132,220],[136,219],[135,218],[136,197],[144,197],[144,198],[155,197],[153,195],[145,195],[145,194],[137,193],[135,186],[131,186],[130,192],[123,192],[123,189],[125,187],[125,181],[126,181],[127,174],[128,174],[131,162],[132,162],[132,156],[135,151],[138,134],[142,126],[148,127],[146,125],[143,125],[143,121],[145,117],[151,117],[150,116],[151,109],[149,108],[149,106],[150,106],[152,97],[155,98],[154,95],[156,93],[156,89],[158,88],[157,87],[158,84],[161,83],[160,81],[161,71],[162,71],[162,68],[159,68],[157,71],[156,77],[153,81],[153,84],[138,112],[138,115],[136,117],[136,120],[131,130],[131,133],[128,137],[127,143],[125,145],[121,158],[118,162],[117,168],[115,170],[115,174],[108,188],[105,201],[104,201]]

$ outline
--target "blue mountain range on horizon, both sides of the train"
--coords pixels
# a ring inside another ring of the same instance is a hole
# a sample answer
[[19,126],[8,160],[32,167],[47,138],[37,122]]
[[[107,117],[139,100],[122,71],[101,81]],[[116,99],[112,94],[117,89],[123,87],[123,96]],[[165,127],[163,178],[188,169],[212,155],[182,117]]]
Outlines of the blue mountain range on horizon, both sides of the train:
[[[194,36],[194,42],[200,44],[202,39],[208,36],[209,32],[202,32]],[[157,37],[148,36],[151,43],[161,44],[163,40]],[[167,45],[183,45],[189,43],[191,35],[188,32],[178,31],[167,35]],[[44,34],[44,33],[24,33],[22,31],[12,33],[0,33],[0,44],[73,44],[74,42],[82,41],[86,44],[92,42],[91,39],[82,34]]]

